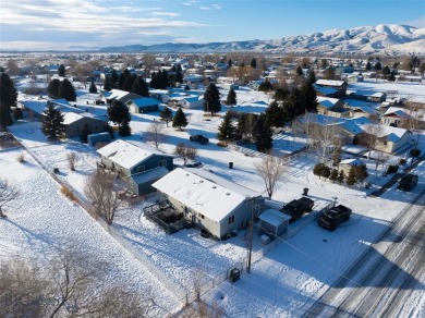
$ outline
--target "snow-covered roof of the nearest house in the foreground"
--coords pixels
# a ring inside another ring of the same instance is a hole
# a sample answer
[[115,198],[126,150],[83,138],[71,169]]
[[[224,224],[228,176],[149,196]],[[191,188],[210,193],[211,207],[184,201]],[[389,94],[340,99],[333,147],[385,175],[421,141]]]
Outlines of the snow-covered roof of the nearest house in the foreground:
[[223,220],[246,199],[240,193],[181,168],[171,171],[153,186],[216,222]]

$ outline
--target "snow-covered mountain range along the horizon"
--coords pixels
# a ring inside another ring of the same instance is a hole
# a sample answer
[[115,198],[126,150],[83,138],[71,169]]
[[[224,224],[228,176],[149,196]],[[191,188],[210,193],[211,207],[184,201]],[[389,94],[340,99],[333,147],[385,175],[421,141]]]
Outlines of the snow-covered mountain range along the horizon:
[[331,29],[271,40],[246,40],[209,44],[161,44],[105,47],[101,52],[180,52],[208,53],[258,51],[264,53],[379,53],[425,54],[425,28],[380,24],[350,29]]

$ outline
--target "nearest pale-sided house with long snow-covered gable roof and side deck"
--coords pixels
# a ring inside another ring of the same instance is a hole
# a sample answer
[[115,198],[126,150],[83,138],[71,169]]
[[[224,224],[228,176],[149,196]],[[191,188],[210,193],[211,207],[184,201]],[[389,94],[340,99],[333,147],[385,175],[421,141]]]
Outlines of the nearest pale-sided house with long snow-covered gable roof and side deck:
[[178,168],[153,184],[159,200],[183,217],[222,238],[264,210],[264,198],[206,170]]

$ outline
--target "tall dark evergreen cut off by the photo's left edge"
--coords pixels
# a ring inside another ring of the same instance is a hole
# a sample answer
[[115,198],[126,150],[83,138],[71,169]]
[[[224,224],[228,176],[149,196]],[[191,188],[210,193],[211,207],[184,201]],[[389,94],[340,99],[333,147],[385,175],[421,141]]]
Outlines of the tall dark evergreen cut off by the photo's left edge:
[[4,130],[13,124],[12,107],[16,106],[17,91],[8,74],[0,74],[0,126]]

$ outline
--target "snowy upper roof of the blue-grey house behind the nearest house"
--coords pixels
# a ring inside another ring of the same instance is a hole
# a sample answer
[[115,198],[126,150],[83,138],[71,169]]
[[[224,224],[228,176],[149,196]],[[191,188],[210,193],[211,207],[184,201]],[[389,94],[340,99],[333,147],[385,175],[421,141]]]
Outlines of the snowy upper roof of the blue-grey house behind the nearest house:
[[132,169],[139,162],[158,152],[155,151],[155,149],[147,149],[147,147],[148,146],[146,145],[146,147],[141,148],[125,140],[114,140],[98,149],[97,152],[101,156],[108,157],[110,160],[123,168]]

